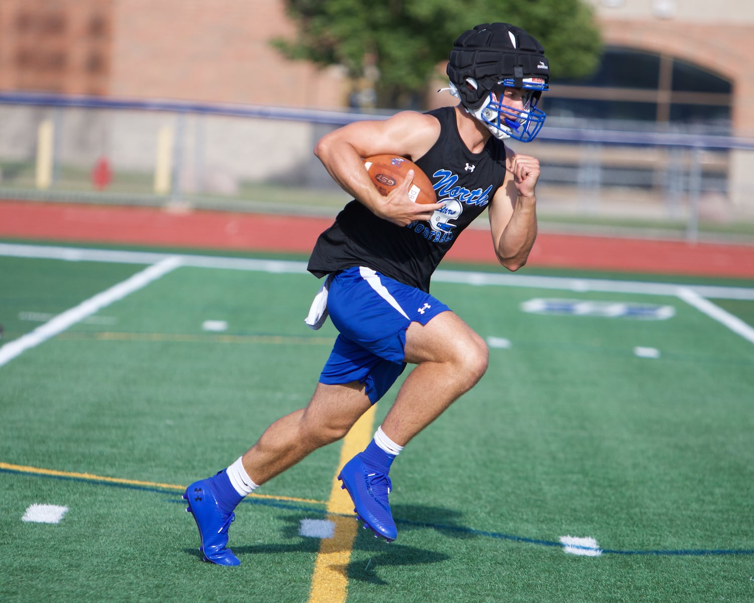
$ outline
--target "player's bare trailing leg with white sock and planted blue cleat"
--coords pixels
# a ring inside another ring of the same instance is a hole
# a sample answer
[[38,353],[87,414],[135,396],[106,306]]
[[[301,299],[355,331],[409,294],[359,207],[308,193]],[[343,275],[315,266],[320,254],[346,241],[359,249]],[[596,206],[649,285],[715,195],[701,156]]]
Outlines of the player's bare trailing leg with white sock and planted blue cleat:
[[238,503],[312,451],[342,438],[369,405],[363,383],[318,383],[306,408],[272,423],[227,469],[186,488],[183,498],[199,528],[204,560],[218,565],[240,564],[228,549],[228,528]]

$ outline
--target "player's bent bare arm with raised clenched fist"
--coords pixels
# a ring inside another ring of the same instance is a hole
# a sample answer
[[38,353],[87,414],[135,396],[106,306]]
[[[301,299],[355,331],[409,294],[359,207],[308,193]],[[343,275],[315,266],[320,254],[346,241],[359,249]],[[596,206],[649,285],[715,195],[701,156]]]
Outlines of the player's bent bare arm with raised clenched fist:
[[515,271],[526,263],[537,237],[539,162],[506,149],[505,169],[503,186],[489,205],[489,226],[498,261]]

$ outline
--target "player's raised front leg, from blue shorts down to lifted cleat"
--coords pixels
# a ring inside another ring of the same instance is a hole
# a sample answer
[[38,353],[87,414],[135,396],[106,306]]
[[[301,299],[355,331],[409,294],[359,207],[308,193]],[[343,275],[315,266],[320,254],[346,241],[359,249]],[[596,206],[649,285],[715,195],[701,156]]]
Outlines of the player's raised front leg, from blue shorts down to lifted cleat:
[[[404,361],[419,364],[398,394],[391,421],[339,474],[357,514],[375,535],[391,541],[397,536],[388,503],[391,463],[403,443],[479,380],[487,365],[486,345],[448,306],[372,269],[344,271],[330,285],[333,294],[328,303],[333,324],[348,340],[382,358],[372,366],[370,378],[381,371],[391,374],[390,368]],[[409,412],[422,396],[418,404],[425,406]]]

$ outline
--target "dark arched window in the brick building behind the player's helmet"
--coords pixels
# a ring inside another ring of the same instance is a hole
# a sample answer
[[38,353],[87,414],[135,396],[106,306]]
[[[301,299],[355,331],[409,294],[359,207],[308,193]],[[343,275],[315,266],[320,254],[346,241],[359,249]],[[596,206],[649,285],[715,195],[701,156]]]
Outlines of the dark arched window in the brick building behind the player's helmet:
[[551,123],[565,118],[632,120],[730,134],[732,85],[701,66],[665,54],[608,47],[596,73],[557,78],[543,97]]

